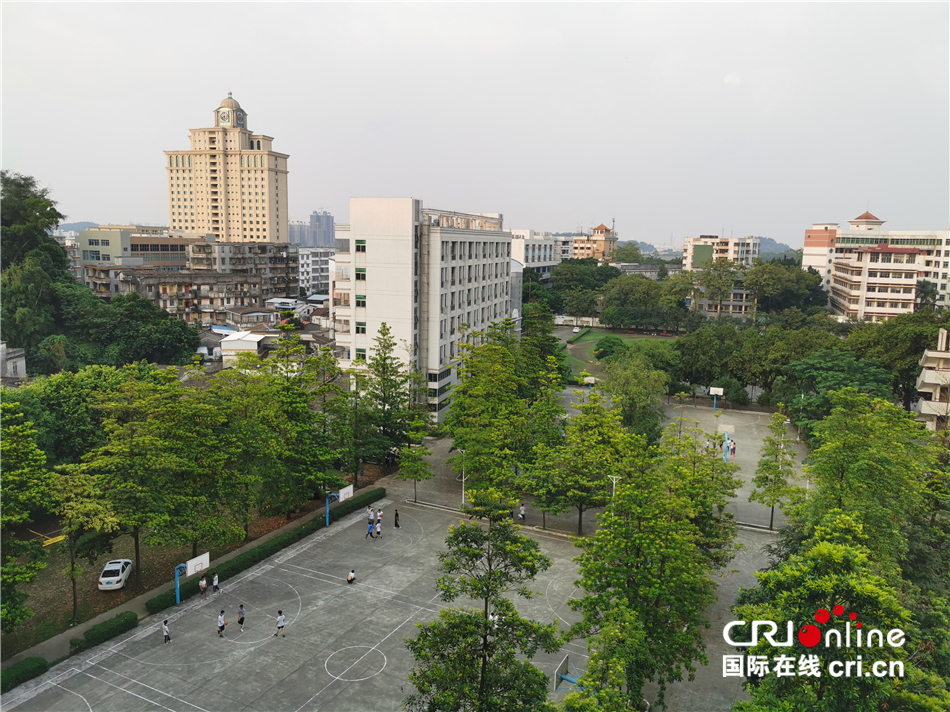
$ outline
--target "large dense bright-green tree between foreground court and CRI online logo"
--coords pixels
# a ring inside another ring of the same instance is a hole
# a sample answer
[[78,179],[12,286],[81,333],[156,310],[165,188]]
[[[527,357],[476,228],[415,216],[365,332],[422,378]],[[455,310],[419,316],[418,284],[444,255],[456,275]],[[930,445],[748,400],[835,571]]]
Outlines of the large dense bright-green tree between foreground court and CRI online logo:
[[[624,460],[619,474],[625,477],[599,516],[597,532],[575,542],[581,549],[576,583],[585,595],[569,601],[583,614],[573,632],[609,631],[612,613],[625,606],[642,626],[646,645],[620,658],[626,694],[639,699],[644,680],[652,681],[663,704],[670,682],[684,673],[693,679],[694,662],[706,662],[701,629],[708,623],[702,615],[715,587],[689,521],[693,504],[670,488],[667,473],[641,448]],[[626,622],[636,628],[629,617]]]

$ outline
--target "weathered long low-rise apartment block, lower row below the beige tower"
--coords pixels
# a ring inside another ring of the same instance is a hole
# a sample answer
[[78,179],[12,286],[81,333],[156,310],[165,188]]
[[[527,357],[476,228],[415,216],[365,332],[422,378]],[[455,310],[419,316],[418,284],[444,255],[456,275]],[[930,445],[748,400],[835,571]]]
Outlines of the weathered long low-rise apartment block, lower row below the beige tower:
[[232,307],[261,307],[259,274],[120,269],[120,294],[136,292],[169,314],[203,325],[225,325]]

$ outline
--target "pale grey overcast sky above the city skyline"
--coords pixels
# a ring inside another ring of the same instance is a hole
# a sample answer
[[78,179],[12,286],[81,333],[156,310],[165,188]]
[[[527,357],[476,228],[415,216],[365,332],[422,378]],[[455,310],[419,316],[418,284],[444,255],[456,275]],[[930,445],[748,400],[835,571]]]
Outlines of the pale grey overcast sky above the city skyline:
[[2,6],[3,167],[167,224],[163,150],[234,93],[291,219],[351,196],[794,246],[950,222],[948,3]]

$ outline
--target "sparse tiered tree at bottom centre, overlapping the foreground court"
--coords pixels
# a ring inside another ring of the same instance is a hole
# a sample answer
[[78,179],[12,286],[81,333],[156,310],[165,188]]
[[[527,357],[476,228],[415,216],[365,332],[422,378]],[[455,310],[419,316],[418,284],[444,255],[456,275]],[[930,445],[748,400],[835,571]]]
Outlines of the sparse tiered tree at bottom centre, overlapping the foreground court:
[[[511,521],[517,500],[494,489],[469,491],[462,512],[472,520],[449,529],[447,550],[439,554],[443,601],[460,597],[476,609],[443,609],[432,623],[419,625],[406,647],[416,661],[409,681],[417,692],[408,710],[435,712],[515,712],[551,710],[547,676],[531,664],[540,649],[560,648],[556,624],[522,618],[507,597],[533,596],[527,583],[551,560],[538,543],[518,534]],[[487,526],[483,526],[482,522]]]

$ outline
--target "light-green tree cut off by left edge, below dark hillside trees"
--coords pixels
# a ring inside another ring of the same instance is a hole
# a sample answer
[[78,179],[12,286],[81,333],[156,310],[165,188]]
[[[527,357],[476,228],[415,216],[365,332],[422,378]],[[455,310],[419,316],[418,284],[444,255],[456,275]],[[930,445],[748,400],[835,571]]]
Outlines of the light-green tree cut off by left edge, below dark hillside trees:
[[32,521],[32,513],[48,503],[51,473],[46,455],[36,444],[33,423],[24,422],[19,403],[5,394],[0,402],[0,560],[2,560],[2,630],[9,633],[33,615],[26,606],[27,595],[19,589],[30,583],[46,566],[42,547],[25,541],[15,529]]

